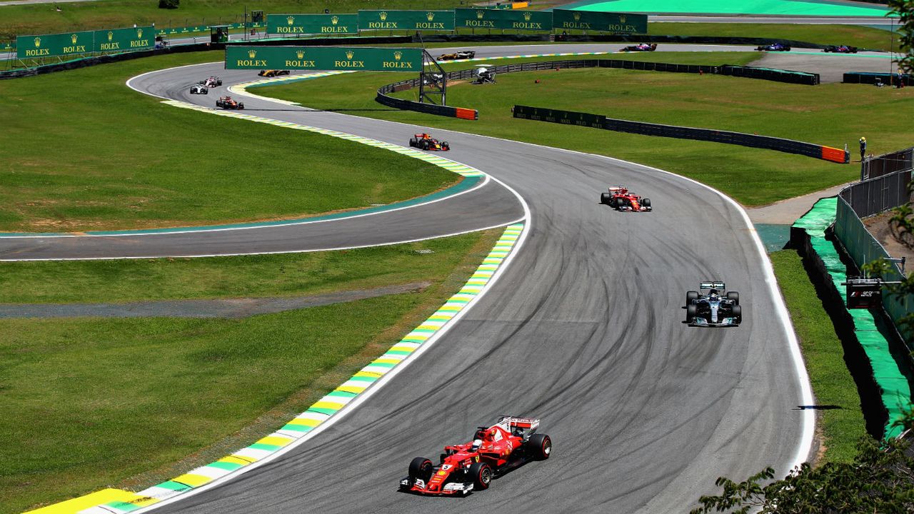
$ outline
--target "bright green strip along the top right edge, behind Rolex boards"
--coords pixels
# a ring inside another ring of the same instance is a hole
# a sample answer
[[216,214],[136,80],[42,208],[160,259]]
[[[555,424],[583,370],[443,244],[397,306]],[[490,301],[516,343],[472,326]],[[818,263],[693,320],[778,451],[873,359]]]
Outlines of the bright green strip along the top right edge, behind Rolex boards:
[[579,11],[617,13],[702,13],[715,15],[886,16],[887,9],[794,0],[611,0],[566,6]]

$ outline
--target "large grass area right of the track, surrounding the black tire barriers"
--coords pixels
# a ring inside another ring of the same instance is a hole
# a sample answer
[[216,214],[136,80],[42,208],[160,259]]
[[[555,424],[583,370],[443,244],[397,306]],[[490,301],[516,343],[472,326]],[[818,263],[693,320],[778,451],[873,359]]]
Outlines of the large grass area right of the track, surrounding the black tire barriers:
[[[611,59],[740,64],[757,57],[749,53],[684,55],[658,51],[613,55]],[[448,67],[465,69],[474,64]],[[910,145],[909,123],[898,112],[914,106],[911,88],[877,90],[849,84],[813,87],[714,75],[586,69],[502,74],[497,84],[484,86],[452,84],[448,103],[478,109],[478,121],[420,112],[377,111],[370,91],[405,78],[409,77],[329,77],[321,83],[263,88],[259,94],[326,110],[372,109],[356,113],[620,157],[695,178],[747,206],[765,205],[841,184],[856,177],[858,171],[855,165],[836,165],[770,150],[517,120],[511,117],[511,107],[519,103],[595,112],[626,120],[772,135],[820,145],[848,144],[852,150],[857,139],[866,135],[869,150],[879,154]],[[403,91],[399,96],[415,99],[416,91]]]

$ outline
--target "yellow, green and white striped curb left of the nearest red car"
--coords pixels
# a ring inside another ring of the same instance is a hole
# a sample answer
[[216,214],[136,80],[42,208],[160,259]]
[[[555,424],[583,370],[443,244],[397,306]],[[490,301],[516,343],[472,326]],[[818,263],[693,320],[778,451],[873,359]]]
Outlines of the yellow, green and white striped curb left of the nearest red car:
[[[326,423],[336,412],[340,412],[348,403],[353,402],[377,380],[397,368],[401,362],[433,337],[442,327],[446,327],[455,316],[458,316],[473,299],[482,294],[492,280],[494,273],[505,262],[515,249],[525,229],[524,223],[515,223],[505,228],[491,252],[476,268],[470,279],[463,284],[459,292],[453,294],[434,314],[414,328],[399,342],[368,365],[356,372],[349,380],[343,382],[334,391],[330,391],[308,407],[305,412],[295,416],[276,432],[261,438],[254,444],[226,455],[207,466],[200,466],[184,475],[174,477],[161,484],[148,487],[133,493],[122,489],[104,489],[86,497],[75,498],[44,509],[31,511],[29,514],[122,514],[136,509],[154,505],[167,498],[174,498],[186,491],[205,486],[218,478],[226,477],[246,466],[258,462],[286,446],[301,440],[322,423]],[[86,505],[89,498],[107,499],[91,506]],[[81,503],[80,503],[81,500]],[[78,509],[73,507],[79,506]]]

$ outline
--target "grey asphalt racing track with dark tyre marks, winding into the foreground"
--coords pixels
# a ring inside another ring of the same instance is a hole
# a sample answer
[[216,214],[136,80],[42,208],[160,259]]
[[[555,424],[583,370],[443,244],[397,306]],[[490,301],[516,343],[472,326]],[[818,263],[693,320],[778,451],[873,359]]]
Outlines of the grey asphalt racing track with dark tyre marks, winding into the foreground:
[[[227,85],[256,78],[221,68],[163,70],[143,87],[209,105],[212,95],[190,97],[186,86],[212,74]],[[251,114],[400,145],[420,130],[244,102]],[[547,128],[529,122],[529,130]],[[732,203],[645,166],[430,132],[452,143],[450,158],[526,198],[530,231],[515,261],[467,316],[338,423],[159,512],[668,513],[715,492],[718,476],[742,479],[765,466],[786,473],[811,416],[798,409],[801,384],[762,272],[767,258]],[[599,205],[600,191],[618,183],[652,198],[654,212]],[[685,291],[712,278],[740,292],[741,327],[682,323]],[[541,418],[552,457],[470,498],[397,491],[412,457],[436,458],[505,413]]]

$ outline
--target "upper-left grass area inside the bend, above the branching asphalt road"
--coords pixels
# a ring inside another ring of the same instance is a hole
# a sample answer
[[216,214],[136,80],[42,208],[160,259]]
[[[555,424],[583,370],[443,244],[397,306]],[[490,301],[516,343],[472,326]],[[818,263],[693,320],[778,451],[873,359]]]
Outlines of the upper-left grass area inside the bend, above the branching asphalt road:
[[0,230],[293,218],[415,198],[460,178],[379,148],[175,109],[124,86],[219,59],[157,56],[0,82]]

